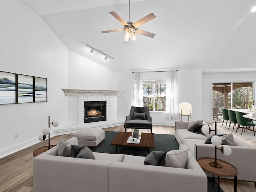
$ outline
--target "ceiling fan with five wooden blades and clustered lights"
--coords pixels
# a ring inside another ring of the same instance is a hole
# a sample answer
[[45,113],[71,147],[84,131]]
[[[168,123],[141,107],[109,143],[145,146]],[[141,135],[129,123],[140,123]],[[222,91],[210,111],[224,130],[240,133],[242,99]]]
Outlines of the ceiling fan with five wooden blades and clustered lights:
[[138,29],[137,27],[141,26],[142,24],[156,18],[156,16],[153,13],[148,14],[147,16],[141,18],[140,20],[136,21],[135,23],[131,22],[130,20],[130,0],[129,0],[129,21],[125,22],[116,12],[111,11],[109,12],[116,20],[118,20],[123,26],[123,29],[113,29],[108,31],[102,31],[102,33],[109,33],[109,32],[116,32],[116,31],[122,31],[124,30],[124,42],[127,43],[131,40],[136,40],[136,33],[145,35],[148,37],[153,38],[156,34],[150,33],[147,31],[144,31],[142,29]]

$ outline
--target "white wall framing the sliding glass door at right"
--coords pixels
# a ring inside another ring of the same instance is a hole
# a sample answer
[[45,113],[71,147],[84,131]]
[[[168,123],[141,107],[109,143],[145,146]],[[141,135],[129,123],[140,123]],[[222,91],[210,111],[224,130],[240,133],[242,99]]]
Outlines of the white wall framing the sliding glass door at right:
[[255,72],[225,72],[202,74],[202,118],[212,122],[212,83],[223,82],[254,82],[254,100],[256,93]]

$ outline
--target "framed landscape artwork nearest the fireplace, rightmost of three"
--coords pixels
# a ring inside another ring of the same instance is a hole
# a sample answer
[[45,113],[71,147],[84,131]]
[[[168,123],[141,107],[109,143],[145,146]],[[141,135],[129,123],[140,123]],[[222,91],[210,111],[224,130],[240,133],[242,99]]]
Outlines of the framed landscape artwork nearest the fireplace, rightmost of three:
[[34,77],[35,102],[47,102],[47,79]]

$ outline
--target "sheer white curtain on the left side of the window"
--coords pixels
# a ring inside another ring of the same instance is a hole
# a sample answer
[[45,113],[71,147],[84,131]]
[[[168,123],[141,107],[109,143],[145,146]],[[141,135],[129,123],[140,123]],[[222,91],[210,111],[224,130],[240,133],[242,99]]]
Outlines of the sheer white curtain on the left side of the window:
[[133,73],[133,106],[143,107],[142,72]]

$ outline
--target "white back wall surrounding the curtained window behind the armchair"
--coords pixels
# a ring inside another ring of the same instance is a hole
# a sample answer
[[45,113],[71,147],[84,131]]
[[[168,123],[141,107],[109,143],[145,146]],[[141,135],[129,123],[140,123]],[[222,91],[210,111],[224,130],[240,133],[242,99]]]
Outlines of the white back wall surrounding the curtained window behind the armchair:
[[[145,73],[144,78],[159,78],[159,73]],[[165,79],[165,74],[164,78]],[[118,118],[125,118],[132,106],[133,95],[132,72],[118,73],[118,87],[124,93],[118,98]],[[178,103],[190,102],[192,104],[192,118],[202,118],[202,71],[195,69],[179,69],[177,72]],[[165,120],[165,113],[150,112],[154,125],[174,125],[175,120]],[[183,117],[186,118],[186,117]],[[185,120],[185,119],[184,119]]]

